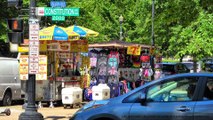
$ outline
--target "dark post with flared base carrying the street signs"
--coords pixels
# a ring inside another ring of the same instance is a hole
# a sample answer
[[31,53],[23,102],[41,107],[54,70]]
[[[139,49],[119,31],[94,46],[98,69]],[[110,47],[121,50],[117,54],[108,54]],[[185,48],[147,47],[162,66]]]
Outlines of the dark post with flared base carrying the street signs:
[[[29,9],[29,26],[32,24],[31,22],[37,22],[36,21],[36,1],[30,0],[30,9]],[[31,29],[29,27],[29,33]],[[31,38],[29,38],[31,39]],[[29,51],[30,54],[30,51]],[[30,55],[29,55],[30,56]],[[30,64],[30,62],[28,63]],[[28,67],[29,69],[29,67]],[[37,107],[35,106],[35,86],[36,86],[36,75],[29,73],[28,75],[28,103],[27,107],[25,108],[25,112],[21,113],[19,116],[19,120],[43,120],[43,116],[41,113],[37,112]]]

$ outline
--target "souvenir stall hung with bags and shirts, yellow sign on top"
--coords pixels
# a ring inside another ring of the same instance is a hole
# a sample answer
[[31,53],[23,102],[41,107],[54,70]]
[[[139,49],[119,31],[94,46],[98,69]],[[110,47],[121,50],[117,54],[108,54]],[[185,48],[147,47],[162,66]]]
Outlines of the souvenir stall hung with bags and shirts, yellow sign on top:
[[[140,79],[142,56],[149,55],[150,46],[128,43],[124,41],[109,41],[89,44],[91,85],[105,83],[110,87],[110,97],[116,97],[134,88],[130,85]],[[94,62],[96,60],[96,62]],[[147,63],[149,61],[146,61]],[[122,82],[128,87],[119,89]],[[133,87],[134,85],[131,85]]]

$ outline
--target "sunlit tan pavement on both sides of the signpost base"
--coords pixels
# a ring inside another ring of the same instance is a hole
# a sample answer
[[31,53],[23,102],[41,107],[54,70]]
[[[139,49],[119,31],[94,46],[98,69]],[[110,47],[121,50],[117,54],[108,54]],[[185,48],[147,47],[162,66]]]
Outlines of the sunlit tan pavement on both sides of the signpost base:
[[[9,107],[0,106],[0,112],[3,112],[6,108],[11,110],[11,115],[7,116],[3,113],[0,114],[0,120],[18,120],[19,115],[25,110],[22,109],[22,105],[12,105]],[[69,118],[78,110],[79,108],[66,108],[63,106],[49,108],[48,106],[38,109],[44,117],[44,120],[69,120]]]

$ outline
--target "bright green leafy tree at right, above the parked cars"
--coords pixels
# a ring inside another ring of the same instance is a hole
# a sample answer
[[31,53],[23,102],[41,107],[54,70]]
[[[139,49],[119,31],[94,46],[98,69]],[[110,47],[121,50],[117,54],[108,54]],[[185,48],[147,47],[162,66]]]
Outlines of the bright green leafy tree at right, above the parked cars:
[[213,49],[210,46],[213,44],[213,14],[203,9],[198,0],[194,0],[194,4],[191,11],[196,10],[193,16],[197,17],[188,21],[186,25],[179,24],[170,28],[172,36],[169,37],[167,51],[178,58],[190,55],[197,61],[212,56]]

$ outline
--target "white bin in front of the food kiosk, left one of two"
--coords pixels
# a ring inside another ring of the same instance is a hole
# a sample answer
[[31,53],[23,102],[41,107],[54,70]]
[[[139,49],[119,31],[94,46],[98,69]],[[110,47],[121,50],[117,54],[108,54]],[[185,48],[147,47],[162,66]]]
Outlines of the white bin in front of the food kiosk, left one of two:
[[64,108],[68,105],[74,107],[75,104],[81,106],[82,102],[82,89],[80,87],[70,87],[62,89],[62,103]]

